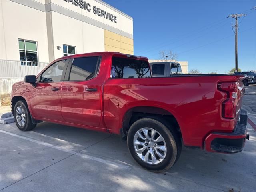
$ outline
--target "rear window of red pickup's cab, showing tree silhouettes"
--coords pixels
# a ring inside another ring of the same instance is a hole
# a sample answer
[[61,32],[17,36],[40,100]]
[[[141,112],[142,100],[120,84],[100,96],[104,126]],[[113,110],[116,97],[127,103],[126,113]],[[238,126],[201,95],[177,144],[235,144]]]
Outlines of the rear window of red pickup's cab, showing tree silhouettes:
[[110,78],[146,78],[150,77],[147,61],[130,58],[112,58]]

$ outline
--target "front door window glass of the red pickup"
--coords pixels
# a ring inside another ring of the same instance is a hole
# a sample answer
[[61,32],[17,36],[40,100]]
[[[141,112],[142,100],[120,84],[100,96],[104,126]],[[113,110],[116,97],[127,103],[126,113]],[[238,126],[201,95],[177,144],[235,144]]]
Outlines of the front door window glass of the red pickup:
[[59,82],[67,60],[58,61],[47,68],[41,77],[41,82]]

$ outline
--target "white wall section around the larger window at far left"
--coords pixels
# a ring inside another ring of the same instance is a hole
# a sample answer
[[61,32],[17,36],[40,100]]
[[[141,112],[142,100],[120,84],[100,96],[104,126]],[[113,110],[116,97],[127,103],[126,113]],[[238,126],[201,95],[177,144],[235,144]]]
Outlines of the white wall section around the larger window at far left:
[[0,59],[20,60],[20,38],[38,42],[38,61],[49,62],[45,12],[8,0],[0,6]]

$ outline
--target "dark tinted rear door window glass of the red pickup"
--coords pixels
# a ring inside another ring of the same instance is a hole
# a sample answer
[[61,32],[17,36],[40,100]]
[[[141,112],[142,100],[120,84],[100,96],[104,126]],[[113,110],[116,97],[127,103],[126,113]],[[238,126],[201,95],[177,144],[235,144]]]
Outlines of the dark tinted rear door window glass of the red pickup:
[[96,76],[99,57],[74,58],[71,70],[70,81],[89,80]]

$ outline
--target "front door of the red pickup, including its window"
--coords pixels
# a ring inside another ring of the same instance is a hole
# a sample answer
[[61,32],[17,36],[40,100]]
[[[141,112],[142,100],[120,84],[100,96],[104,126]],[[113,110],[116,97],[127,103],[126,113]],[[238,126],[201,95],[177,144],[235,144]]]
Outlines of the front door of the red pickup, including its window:
[[36,118],[64,121],[61,115],[60,88],[68,60],[60,60],[48,67],[30,91],[30,104]]

